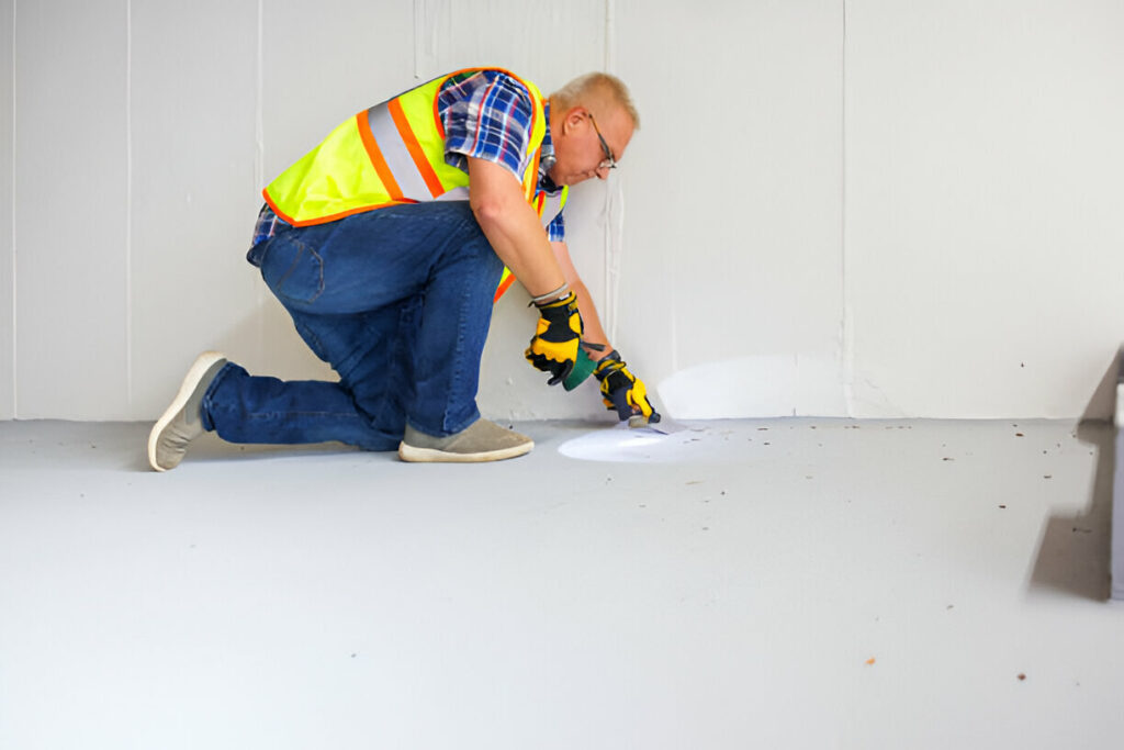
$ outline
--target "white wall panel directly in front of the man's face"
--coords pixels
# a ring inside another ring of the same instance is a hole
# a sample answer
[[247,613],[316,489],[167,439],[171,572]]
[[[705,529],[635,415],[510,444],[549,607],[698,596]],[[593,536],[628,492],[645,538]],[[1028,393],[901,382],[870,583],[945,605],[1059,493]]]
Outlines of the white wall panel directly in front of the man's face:
[[619,8],[623,351],[676,414],[843,414],[842,3]]

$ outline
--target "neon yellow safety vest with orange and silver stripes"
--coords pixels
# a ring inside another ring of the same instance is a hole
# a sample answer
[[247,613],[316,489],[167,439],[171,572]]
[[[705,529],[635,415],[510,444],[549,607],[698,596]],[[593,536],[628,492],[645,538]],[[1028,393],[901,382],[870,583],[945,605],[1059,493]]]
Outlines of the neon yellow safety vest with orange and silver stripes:
[[[545,100],[534,83],[501,69],[456,71],[364,109],[273,180],[262,191],[265,202],[289,224],[311,226],[386,206],[466,199],[468,173],[445,163],[445,126],[437,115],[437,93],[448,79],[483,70],[506,73],[531,92],[531,157],[522,182],[527,202],[546,226],[565,205],[569,188],[554,196],[538,190]],[[513,281],[515,277],[505,268],[497,300]]]

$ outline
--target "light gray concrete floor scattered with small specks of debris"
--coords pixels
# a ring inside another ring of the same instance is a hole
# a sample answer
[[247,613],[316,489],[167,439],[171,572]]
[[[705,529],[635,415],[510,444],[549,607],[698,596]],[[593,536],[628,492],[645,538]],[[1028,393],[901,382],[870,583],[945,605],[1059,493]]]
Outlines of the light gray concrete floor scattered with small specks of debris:
[[1108,426],[0,423],[0,748],[1120,748]]

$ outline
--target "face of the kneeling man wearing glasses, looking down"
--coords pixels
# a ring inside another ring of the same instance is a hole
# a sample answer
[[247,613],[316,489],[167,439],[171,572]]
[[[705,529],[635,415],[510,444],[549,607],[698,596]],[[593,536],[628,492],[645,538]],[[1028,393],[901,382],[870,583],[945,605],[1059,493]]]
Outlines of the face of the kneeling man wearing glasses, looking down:
[[551,180],[556,186],[595,177],[605,180],[609,177],[608,164],[620,161],[632,134],[632,119],[620,107],[607,106],[600,111],[584,106],[570,108],[558,124],[552,124],[556,161],[550,171]]

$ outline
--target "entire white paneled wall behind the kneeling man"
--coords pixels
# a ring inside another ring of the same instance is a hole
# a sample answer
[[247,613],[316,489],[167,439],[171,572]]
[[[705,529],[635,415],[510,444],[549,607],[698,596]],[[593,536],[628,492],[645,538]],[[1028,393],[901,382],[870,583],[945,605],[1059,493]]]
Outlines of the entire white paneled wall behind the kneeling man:
[[[480,63],[632,85],[642,128],[574,191],[571,250],[677,416],[1077,416],[1124,340],[1115,0],[0,16],[0,418],[151,418],[208,347],[329,377],[244,262],[260,189],[359,109]],[[524,304],[496,310],[481,409],[602,414],[522,360]]]

